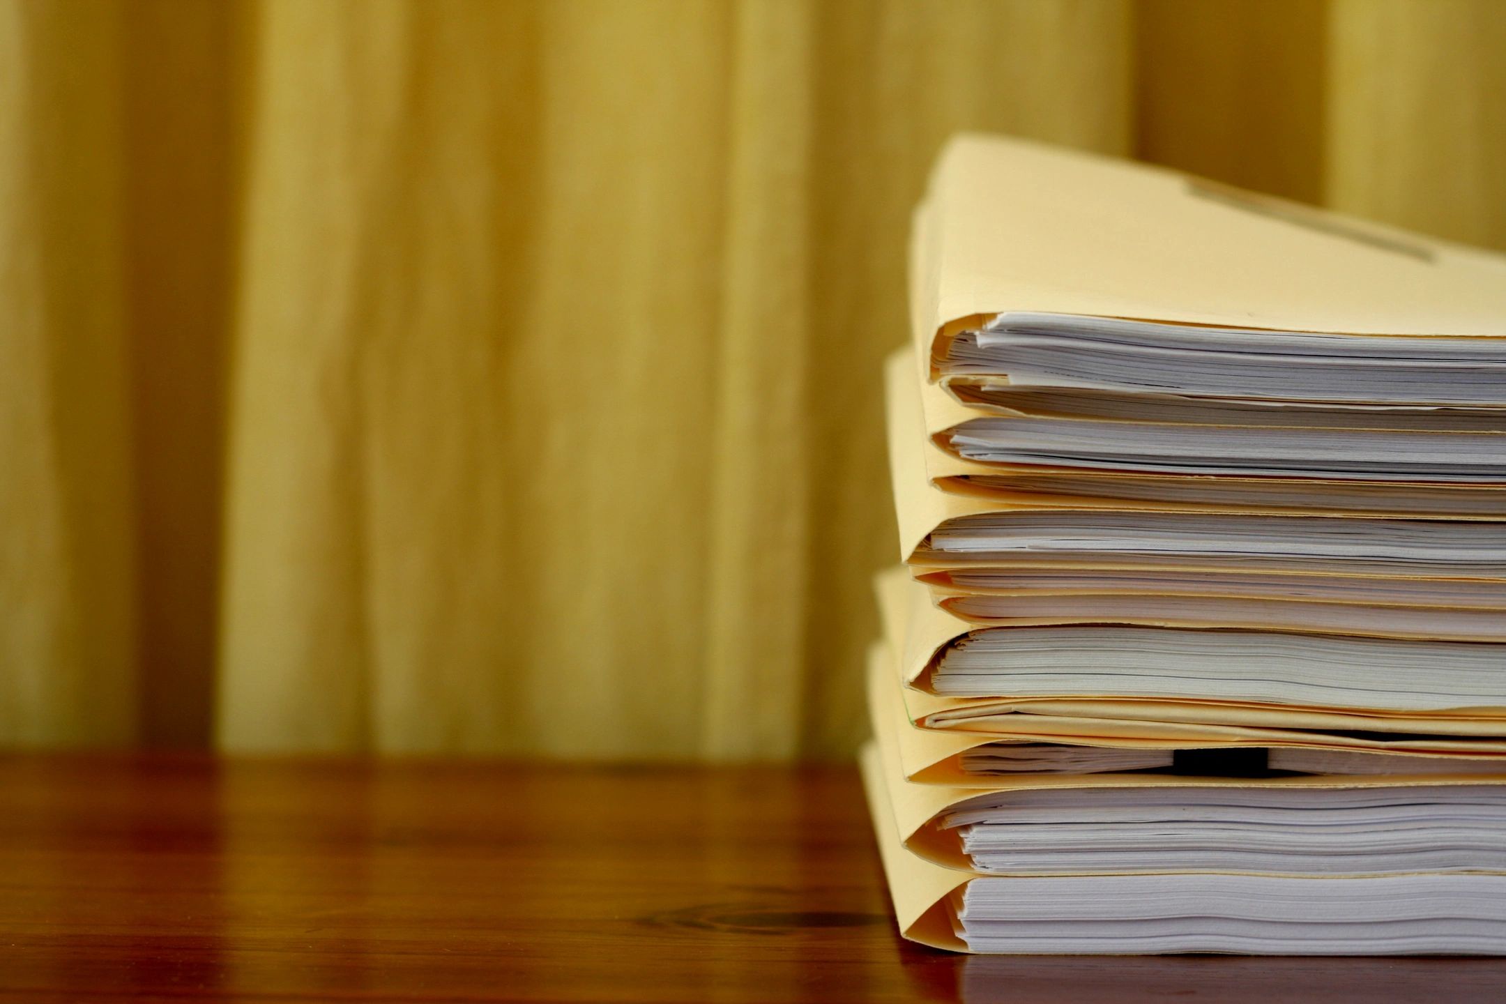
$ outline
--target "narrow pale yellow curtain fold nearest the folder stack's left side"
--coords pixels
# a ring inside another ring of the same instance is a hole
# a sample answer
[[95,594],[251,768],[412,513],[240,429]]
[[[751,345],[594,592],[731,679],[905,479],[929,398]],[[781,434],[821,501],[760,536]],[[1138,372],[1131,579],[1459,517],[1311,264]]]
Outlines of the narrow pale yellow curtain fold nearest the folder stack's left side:
[[705,512],[700,733],[712,760],[795,757],[810,602],[815,11],[741,0],[727,53]]

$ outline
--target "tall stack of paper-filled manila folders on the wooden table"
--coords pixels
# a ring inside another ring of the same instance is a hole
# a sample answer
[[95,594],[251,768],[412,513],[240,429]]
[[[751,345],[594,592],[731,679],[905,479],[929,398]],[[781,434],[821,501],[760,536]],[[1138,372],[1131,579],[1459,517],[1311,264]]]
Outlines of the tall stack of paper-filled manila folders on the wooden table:
[[1506,953],[1506,259],[961,137],[910,260],[901,932]]

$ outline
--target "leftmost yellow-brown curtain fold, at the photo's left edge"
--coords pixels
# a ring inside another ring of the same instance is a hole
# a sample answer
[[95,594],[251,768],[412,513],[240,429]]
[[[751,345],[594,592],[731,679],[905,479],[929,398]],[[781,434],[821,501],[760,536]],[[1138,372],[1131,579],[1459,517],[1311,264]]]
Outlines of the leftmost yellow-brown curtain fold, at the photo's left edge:
[[137,735],[117,9],[0,8],[0,736]]

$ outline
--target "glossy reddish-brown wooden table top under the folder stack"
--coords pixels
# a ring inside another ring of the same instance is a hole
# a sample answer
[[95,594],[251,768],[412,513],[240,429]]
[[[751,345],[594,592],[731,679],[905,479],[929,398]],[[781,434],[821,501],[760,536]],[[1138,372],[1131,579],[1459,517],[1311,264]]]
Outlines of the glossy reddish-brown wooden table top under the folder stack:
[[898,939],[855,772],[0,759],[0,999],[1501,1001],[1506,962]]

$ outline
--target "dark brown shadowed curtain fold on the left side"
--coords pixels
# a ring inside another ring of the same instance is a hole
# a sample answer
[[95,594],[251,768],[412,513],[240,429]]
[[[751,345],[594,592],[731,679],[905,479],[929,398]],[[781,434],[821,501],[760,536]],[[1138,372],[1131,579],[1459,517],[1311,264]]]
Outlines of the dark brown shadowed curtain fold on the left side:
[[239,14],[229,2],[133,0],[108,84],[122,119],[140,738],[178,747],[212,738]]

